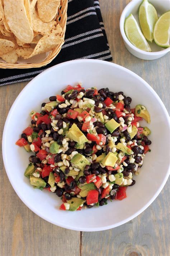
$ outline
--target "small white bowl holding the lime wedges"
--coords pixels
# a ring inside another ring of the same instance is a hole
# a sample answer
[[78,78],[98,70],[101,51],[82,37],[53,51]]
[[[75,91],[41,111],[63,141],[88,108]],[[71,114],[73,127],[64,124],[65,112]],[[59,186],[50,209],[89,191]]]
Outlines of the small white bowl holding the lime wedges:
[[[167,12],[170,10],[170,2],[169,0],[150,0],[149,1],[151,4],[155,6],[155,9],[158,13],[158,17],[162,15],[163,13]],[[127,38],[125,32],[124,32],[124,21],[125,19],[129,16],[129,14],[133,14],[134,18],[139,24],[139,19],[138,19],[138,9],[140,4],[142,3],[142,0],[132,0],[123,10],[121,14],[121,19],[120,19],[120,30],[121,30],[121,35],[123,37],[124,45],[128,49],[130,53],[132,53],[134,56],[140,59],[145,59],[145,60],[153,60],[153,59],[158,59],[164,56],[166,53],[170,51],[170,47],[167,49],[161,48],[160,46],[156,45],[155,42],[148,42],[152,52],[147,52],[138,49],[136,46],[134,46]]]

